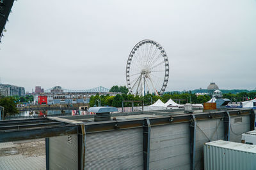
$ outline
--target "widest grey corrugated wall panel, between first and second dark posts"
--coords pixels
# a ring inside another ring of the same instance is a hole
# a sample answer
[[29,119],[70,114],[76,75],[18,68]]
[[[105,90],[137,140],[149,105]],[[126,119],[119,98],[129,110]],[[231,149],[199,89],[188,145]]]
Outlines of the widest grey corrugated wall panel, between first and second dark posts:
[[143,129],[86,134],[84,169],[143,169]]

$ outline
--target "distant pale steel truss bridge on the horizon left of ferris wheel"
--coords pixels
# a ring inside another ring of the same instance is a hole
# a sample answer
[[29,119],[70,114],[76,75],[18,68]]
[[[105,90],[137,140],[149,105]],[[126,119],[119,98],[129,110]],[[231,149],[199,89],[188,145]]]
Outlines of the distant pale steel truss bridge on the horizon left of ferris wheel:
[[51,89],[44,90],[44,92],[63,92],[63,93],[107,93],[109,89],[106,87],[95,87],[93,89],[86,89],[86,90],[70,90],[70,89],[62,89],[60,86],[52,87]]

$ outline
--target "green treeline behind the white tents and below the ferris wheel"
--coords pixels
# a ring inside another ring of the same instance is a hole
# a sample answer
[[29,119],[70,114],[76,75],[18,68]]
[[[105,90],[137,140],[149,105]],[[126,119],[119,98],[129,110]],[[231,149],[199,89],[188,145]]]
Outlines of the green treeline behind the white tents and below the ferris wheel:
[[[193,91],[188,92],[166,92],[163,94],[163,96],[154,96],[152,94],[147,94],[144,97],[140,96],[134,96],[132,94],[127,95],[128,89],[125,86],[118,87],[117,85],[111,87],[111,92],[121,92],[122,94],[117,94],[116,96],[109,96],[102,95],[99,96],[97,94],[96,96],[90,97],[90,106],[113,106],[120,108],[122,107],[122,101],[144,101],[144,106],[149,106],[150,104],[154,104],[158,99],[163,101],[163,103],[166,103],[169,99],[172,99],[178,104],[186,104],[186,103],[205,103],[211,99],[210,96],[204,95],[204,96],[196,96]],[[236,92],[237,90],[234,90]],[[232,91],[233,92],[233,91]],[[223,94],[223,98],[230,99],[234,101],[246,101],[246,99],[254,99],[256,97],[255,91],[250,92],[240,92],[237,94],[232,94],[232,92],[229,92],[227,94]],[[131,106],[131,103],[124,103],[125,107]],[[134,103],[134,106],[141,106],[141,103]]]

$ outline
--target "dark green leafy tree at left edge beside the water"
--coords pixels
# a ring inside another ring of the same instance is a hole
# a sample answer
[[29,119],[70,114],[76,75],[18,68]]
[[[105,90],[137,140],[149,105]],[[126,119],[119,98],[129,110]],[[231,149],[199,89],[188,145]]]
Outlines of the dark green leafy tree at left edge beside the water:
[[15,115],[19,113],[16,108],[14,97],[3,97],[0,99],[0,106],[4,107],[4,117],[6,117],[6,115]]

